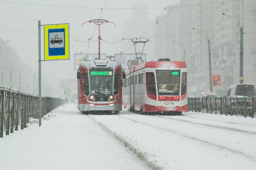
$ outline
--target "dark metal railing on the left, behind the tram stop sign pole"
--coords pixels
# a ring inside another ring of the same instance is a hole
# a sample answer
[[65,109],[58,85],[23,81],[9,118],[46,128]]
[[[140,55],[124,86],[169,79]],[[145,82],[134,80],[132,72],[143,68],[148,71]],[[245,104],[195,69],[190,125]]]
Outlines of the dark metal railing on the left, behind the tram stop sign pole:
[[[65,103],[65,100],[53,97],[42,97],[42,117]],[[29,117],[39,118],[38,96],[0,87],[0,137],[26,128]]]

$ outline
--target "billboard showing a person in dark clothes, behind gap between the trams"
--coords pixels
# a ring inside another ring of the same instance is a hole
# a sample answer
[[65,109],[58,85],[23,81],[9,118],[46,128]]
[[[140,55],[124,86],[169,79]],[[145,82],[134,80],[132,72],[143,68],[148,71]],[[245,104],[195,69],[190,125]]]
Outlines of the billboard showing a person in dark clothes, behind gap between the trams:
[[[137,54],[141,56],[140,63],[146,62],[146,54]],[[122,64],[122,69],[129,70],[132,66],[138,66],[139,60],[136,59],[136,54],[115,54],[115,60]]]

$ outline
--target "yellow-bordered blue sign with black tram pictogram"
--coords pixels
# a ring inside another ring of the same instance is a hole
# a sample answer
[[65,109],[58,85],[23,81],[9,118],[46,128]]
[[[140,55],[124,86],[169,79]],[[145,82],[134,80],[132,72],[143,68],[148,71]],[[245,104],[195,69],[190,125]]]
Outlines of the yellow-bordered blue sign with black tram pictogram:
[[69,24],[44,26],[44,60],[69,59]]

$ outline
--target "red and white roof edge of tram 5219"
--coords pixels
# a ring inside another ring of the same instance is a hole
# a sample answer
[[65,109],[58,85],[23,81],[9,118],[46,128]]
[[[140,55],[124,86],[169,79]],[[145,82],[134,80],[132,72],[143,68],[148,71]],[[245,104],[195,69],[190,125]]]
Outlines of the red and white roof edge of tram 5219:
[[148,61],[125,72],[126,75],[131,74],[145,68],[160,68],[160,67],[174,67],[174,68],[187,68],[185,61]]

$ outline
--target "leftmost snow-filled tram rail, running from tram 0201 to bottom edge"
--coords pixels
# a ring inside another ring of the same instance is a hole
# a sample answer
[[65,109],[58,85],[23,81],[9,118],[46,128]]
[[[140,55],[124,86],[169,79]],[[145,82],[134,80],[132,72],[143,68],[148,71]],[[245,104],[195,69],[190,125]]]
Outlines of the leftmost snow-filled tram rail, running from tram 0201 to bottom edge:
[[135,158],[138,163],[140,163],[145,169],[147,170],[160,170],[162,169],[160,166],[157,166],[156,164],[148,161],[146,156],[141,153],[141,151],[134,148],[129,142],[127,142],[125,139],[123,139],[121,136],[117,135],[115,132],[111,131],[110,128],[108,128],[104,123],[98,122],[95,118],[93,118],[91,115],[88,115],[88,117],[102,130],[104,130],[109,136],[111,136],[118,144],[124,148],[130,155],[132,155],[133,158]]

